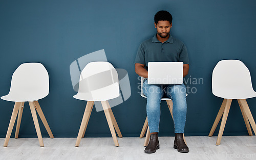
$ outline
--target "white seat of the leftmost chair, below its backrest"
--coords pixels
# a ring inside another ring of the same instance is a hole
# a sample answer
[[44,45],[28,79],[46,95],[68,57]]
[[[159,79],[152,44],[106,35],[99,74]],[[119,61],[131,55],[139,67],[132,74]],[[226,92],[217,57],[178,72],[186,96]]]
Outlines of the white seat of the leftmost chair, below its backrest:
[[47,95],[42,96],[41,93],[9,93],[6,96],[2,96],[1,99],[11,102],[33,102],[45,98],[46,96]]

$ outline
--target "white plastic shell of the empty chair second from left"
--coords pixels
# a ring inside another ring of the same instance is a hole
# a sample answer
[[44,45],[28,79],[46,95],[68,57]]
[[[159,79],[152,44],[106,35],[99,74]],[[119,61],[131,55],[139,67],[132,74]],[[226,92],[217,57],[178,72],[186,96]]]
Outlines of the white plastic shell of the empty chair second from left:
[[118,74],[109,62],[90,62],[83,68],[76,99],[104,101],[119,96]]

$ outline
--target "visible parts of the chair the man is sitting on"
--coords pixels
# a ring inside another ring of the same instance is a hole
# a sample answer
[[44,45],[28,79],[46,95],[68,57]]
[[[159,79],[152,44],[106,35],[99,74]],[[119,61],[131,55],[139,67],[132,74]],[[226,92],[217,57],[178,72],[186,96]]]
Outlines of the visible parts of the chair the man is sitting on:
[[[140,96],[141,97],[144,97],[146,98],[146,96],[144,95],[143,93],[143,83],[144,83],[144,77],[141,77],[141,81],[140,81]],[[187,96],[187,94],[186,94]],[[167,106],[170,110],[170,115],[172,115],[172,118],[174,119],[173,117],[173,101],[172,99],[169,99],[169,98],[161,98],[161,100],[165,100],[166,103],[167,103]],[[147,132],[146,132],[146,129],[147,129]],[[141,133],[140,133],[140,138],[142,139],[144,137],[144,134],[146,132],[146,138],[145,138],[145,142],[144,142],[144,147],[147,146],[148,144],[148,141],[150,141],[150,127],[148,126],[148,121],[147,121],[147,117],[146,117],[146,120],[144,122],[144,125],[143,125],[143,128],[141,130]],[[183,134],[183,139],[184,139],[184,142],[186,143],[186,140],[185,140],[185,136]],[[187,143],[186,143],[187,144]]]

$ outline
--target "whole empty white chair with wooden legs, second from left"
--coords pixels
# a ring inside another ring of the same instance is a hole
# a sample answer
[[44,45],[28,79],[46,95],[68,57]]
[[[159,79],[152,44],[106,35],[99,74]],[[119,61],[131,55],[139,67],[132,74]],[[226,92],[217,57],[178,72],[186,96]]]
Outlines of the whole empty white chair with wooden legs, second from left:
[[101,101],[115,146],[119,146],[116,132],[119,138],[122,138],[122,134],[108,102],[110,99],[119,97],[118,75],[113,65],[109,62],[88,63],[81,72],[78,93],[73,97],[88,101],[75,146],[79,146],[86,132],[94,101]]

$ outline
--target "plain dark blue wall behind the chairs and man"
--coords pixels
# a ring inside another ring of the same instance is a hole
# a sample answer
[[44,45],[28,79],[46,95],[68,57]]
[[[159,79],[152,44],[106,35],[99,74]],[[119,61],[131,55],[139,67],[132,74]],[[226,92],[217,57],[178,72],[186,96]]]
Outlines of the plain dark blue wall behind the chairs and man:
[[[249,68],[256,87],[255,8],[253,0],[1,1],[0,95],[8,94],[18,65],[44,64],[49,72],[50,92],[39,100],[42,110],[56,137],[76,137],[86,102],[73,98],[76,93],[69,66],[83,55],[104,49],[109,62],[128,72],[131,83],[130,99],[112,108],[120,130],[123,136],[139,136],[146,118],[146,99],[138,94],[134,59],[139,44],[156,32],[155,13],[168,10],[174,17],[171,34],[188,49],[188,86],[197,89],[187,97],[185,134],[208,135],[222,103],[211,93],[211,73],[217,62],[240,59]],[[199,78],[203,78],[203,84],[192,83]],[[256,118],[256,98],[247,102]],[[6,135],[13,105],[0,100],[1,138]],[[159,134],[174,135],[167,105],[162,102],[161,106]],[[43,136],[47,136],[39,123]],[[233,101],[224,135],[247,134],[238,103]],[[86,136],[111,136],[103,111],[93,109]],[[20,137],[36,137],[28,103]]]

